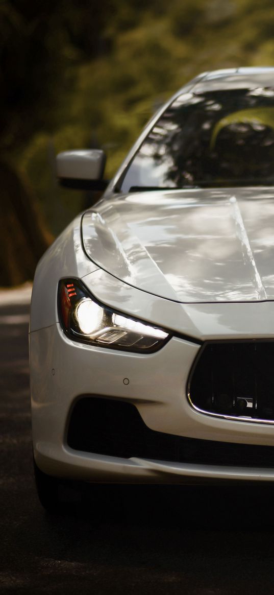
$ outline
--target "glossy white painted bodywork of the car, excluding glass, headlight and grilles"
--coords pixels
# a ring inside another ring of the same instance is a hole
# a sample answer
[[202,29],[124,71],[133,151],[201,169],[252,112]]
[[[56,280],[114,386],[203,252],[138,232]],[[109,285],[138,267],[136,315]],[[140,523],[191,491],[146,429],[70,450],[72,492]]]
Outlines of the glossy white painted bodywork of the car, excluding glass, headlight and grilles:
[[[204,73],[174,98],[209,87],[266,85],[273,73]],[[137,140],[104,199],[84,215],[84,249],[79,215],[37,267],[30,322],[34,456],[50,475],[88,481],[274,481],[273,469],[119,459],[76,452],[66,443],[74,400],[97,394],[133,402],[154,430],[216,443],[274,445],[272,424],[204,415],[187,399],[199,342],[274,337],[273,190],[114,193],[165,107]],[[56,301],[58,281],[66,277],[82,279],[102,303],[181,337],[150,355],[69,340],[59,326]]]

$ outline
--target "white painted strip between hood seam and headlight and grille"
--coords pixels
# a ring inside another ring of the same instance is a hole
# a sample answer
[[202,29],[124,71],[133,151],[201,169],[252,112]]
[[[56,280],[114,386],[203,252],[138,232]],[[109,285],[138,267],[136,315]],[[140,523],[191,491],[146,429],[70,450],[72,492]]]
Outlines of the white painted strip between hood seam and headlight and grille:
[[83,282],[100,302],[196,340],[274,336],[274,302],[182,304],[135,289],[100,269]]

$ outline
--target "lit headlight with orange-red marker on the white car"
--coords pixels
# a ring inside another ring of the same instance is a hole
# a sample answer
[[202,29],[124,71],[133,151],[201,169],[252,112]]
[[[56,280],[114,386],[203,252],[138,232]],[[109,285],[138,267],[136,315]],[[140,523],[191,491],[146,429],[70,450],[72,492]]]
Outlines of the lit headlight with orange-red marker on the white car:
[[161,328],[100,304],[76,279],[59,282],[58,312],[62,328],[71,339],[92,345],[152,352],[170,337]]

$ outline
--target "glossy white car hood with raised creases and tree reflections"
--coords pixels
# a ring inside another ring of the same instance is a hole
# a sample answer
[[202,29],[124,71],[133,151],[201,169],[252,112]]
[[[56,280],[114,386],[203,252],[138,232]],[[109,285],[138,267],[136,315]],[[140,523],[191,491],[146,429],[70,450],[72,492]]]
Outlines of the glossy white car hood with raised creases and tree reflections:
[[274,190],[193,189],[103,199],[83,215],[100,268],[183,303],[274,299]]

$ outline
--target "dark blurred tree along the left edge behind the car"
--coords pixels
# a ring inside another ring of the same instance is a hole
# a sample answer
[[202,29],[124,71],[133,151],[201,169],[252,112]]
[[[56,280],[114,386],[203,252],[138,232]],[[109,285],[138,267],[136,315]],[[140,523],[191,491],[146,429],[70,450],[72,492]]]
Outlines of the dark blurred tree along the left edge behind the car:
[[[0,284],[32,278],[51,237],[17,161],[37,130],[54,130],[56,97],[69,90],[69,66],[102,55],[105,8],[89,0],[11,0],[0,4]],[[62,106],[64,117],[64,106]],[[20,160],[20,158],[19,158]],[[35,240],[35,241],[34,241]]]

